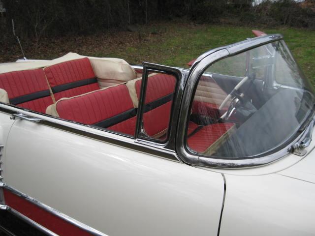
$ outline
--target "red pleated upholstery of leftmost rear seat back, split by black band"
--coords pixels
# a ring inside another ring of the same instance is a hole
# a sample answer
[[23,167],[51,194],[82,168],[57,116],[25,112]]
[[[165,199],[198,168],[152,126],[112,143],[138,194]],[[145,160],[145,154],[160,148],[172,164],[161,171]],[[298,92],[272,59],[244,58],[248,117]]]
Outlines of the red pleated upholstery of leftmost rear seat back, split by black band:
[[[49,89],[42,69],[21,70],[0,74],[0,88],[6,90],[9,99]],[[49,95],[16,105],[45,113],[46,108],[51,104],[53,104],[53,100]]]

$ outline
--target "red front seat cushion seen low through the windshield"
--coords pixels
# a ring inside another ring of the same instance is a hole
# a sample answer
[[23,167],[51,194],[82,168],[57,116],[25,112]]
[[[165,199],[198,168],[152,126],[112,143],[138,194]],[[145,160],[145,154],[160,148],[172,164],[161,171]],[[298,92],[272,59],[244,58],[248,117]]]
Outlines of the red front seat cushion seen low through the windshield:
[[233,125],[234,123],[215,123],[204,126],[188,138],[188,146],[195,151],[204,152]]

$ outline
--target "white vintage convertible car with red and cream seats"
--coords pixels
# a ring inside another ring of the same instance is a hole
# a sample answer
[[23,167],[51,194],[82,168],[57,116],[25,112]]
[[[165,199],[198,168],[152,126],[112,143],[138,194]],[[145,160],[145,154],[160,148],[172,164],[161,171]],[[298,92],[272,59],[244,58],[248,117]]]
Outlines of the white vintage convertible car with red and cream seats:
[[1,64],[0,229],[315,235],[314,104],[280,34],[189,69],[74,53]]

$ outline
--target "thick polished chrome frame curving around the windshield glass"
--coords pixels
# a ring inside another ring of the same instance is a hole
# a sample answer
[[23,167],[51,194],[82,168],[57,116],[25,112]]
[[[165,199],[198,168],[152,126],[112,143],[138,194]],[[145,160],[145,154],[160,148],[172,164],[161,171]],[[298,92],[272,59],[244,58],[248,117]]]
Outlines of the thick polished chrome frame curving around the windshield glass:
[[183,162],[189,165],[222,169],[250,168],[261,166],[285,157],[287,154],[292,152],[292,145],[303,139],[303,137],[305,136],[305,131],[295,137],[294,140],[287,144],[284,148],[272,154],[242,159],[222,159],[214,158],[211,156],[203,156],[201,154],[190,152],[186,145],[186,133],[189,121],[188,116],[191,107],[191,100],[194,95],[198,79],[204,72],[205,68],[220,59],[237,55],[252,48],[256,48],[271,42],[280,41],[282,39],[283,36],[281,34],[265,35],[257,38],[248,39],[236,44],[228,45],[226,47],[211,50],[207,53],[204,53],[194,62],[189,72],[189,78],[185,86],[177,126],[176,151]]

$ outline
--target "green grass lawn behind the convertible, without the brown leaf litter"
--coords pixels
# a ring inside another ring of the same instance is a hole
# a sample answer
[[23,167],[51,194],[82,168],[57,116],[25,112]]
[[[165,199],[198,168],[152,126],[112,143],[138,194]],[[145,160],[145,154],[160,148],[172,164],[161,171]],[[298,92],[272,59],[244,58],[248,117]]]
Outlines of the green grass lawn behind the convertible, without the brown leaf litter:
[[[171,25],[161,35],[148,42],[119,49],[110,56],[124,58],[130,63],[142,60],[171,66],[186,66],[186,63],[203,52],[253,37],[252,28],[231,26]],[[306,76],[315,85],[315,31],[305,29],[261,29],[266,33],[281,33]]]

